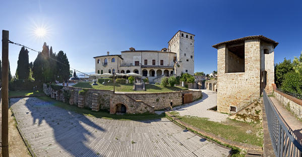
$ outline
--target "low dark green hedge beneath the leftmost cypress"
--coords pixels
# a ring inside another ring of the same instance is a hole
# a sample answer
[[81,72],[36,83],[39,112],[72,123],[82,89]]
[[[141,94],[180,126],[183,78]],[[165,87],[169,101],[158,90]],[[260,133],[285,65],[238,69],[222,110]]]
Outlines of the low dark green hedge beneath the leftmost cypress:
[[13,80],[9,82],[9,89],[11,91],[32,90],[33,88],[34,82],[32,80]]

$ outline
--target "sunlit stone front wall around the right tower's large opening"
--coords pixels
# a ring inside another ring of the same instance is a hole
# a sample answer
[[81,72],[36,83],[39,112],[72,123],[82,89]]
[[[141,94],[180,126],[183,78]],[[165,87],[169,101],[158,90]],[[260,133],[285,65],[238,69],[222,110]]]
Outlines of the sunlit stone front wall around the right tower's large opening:
[[245,41],[245,72],[225,73],[226,45],[217,53],[217,110],[230,113],[229,106],[236,106],[243,99],[260,90],[260,41]]

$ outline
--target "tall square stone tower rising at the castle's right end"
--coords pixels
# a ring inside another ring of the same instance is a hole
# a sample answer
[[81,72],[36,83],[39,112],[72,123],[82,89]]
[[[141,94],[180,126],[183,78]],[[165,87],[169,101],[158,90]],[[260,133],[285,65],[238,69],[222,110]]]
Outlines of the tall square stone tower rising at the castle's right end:
[[168,48],[176,53],[175,74],[194,74],[194,34],[178,31],[168,42]]

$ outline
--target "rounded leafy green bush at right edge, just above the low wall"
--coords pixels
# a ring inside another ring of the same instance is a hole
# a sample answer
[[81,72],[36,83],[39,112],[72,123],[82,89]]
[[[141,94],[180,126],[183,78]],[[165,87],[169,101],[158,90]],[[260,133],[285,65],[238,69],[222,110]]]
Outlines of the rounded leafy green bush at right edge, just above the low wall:
[[297,93],[302,95],[302,74],[296,72],[288,72],[284,75],[281,86],[284,92]]

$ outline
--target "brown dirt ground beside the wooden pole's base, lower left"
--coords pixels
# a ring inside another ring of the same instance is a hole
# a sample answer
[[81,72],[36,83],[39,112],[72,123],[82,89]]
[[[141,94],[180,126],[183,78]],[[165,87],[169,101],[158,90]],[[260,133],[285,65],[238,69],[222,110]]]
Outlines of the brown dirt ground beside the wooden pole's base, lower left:
[[[10,156],[18,156],[18,157],[29,157],[31,156],[28,152],[26,145],[16,127],[16,122],[14,120],[14,116],[12,115],[12,111],[9,111],[9,152]],[[0,150],[1,152],[1,150]]]

